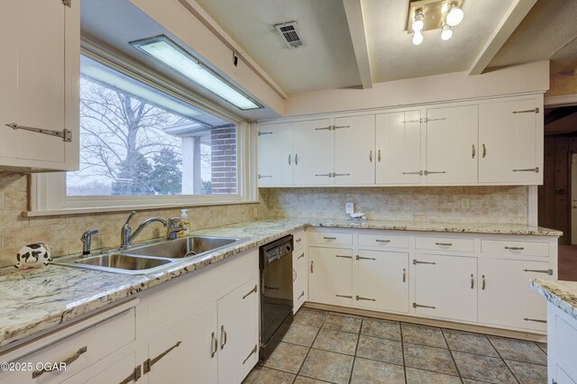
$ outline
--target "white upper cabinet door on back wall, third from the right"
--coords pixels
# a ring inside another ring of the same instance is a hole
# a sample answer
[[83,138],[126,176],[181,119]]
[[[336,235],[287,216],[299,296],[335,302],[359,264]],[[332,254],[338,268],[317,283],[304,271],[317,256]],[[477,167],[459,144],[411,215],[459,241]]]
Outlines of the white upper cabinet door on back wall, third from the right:
[[377,184],[421,183],[421,111],[377,114]]

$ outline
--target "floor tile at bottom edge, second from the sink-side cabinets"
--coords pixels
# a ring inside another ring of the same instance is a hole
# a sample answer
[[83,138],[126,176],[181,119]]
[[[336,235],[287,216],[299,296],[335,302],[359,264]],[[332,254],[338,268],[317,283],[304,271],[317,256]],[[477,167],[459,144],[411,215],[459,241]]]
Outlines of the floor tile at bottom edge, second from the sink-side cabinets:
[[336,384],[349,382],[353,356],[312,349],[303,363],[300,375]]

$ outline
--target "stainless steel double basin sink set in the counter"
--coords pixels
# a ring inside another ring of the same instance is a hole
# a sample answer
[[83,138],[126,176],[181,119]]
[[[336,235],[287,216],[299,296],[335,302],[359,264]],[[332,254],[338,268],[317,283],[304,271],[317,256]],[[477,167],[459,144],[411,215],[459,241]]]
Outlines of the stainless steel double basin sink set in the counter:
[[59,258],[57,265],[139,275],[162,270],[179,261],[202,257],[241,239],[216,236],[189,236],[176,240],[135,245],[125,250],[105,251],[96,256]]

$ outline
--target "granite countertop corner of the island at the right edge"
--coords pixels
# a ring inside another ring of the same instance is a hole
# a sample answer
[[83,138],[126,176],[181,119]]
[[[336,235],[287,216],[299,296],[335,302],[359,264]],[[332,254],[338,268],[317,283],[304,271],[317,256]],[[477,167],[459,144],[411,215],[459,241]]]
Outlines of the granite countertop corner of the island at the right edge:
[[577,281],[533,279],[531,288],[577,320]]

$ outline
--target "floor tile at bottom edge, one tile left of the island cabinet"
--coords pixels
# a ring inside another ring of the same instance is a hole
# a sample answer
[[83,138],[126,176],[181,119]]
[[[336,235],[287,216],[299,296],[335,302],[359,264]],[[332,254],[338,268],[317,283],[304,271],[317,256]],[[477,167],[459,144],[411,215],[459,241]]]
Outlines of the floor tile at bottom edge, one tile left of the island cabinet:
[[465,352],[453,352],[453,358],[463,378],[499,384],[517,383],[505,362],[498,358]]

